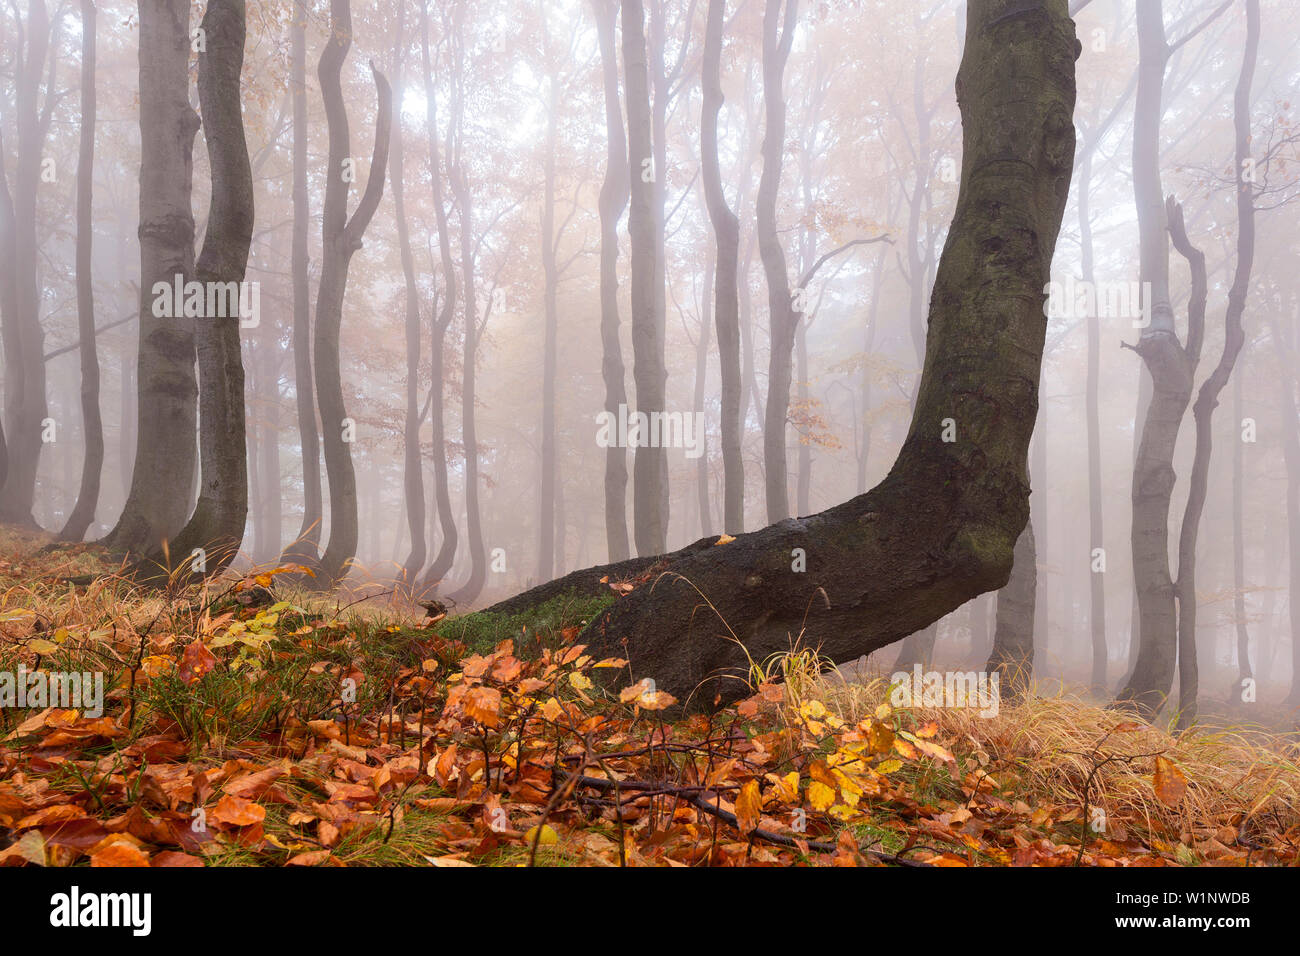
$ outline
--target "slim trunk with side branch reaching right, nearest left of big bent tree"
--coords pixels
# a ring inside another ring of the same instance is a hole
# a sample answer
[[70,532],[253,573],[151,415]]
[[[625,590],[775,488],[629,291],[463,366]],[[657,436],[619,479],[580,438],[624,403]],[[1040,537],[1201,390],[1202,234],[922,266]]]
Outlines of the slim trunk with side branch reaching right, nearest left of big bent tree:
[[794,43],[798,0],[767,0],[763,12],[763,174],[758,183],[758,252],[767,276],[767,308],[771,347],[767,359],[767,407],[763,414],[763,484],[767,520],[790,516],[786,488],[785,423],[790,410],[790,363],[798,315],[790,300],[785,250],[776,234],[776,194],[781,187],[785,152],[785,61]]

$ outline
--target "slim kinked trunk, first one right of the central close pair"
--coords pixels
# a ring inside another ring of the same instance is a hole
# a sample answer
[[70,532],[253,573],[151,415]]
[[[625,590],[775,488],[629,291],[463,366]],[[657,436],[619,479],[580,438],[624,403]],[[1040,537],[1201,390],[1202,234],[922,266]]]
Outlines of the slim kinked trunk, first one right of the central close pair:
[[[718,367],[722,373],[723,531],[745,529],[745,462],[741,458],[740,377],[740,220],[727,206],[718,161],[718,113],[723,107],[720,79],[725,0],[708,0],[699,113],[699,151],[708,221],[718,245],[714,276],[714,321],[718,325]],[[701,333],[703,334],[703,333]]]

